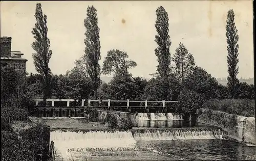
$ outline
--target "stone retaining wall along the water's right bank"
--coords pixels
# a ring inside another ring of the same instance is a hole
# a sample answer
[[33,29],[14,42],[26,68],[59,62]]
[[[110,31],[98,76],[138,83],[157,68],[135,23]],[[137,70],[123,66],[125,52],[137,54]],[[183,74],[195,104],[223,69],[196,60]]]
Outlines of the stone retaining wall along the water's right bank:
[[244,116],[207,109],[199,109],[197,113],[198,122],[221,127],[228,132],[228,137],[255,144],[255,118],[253,125]]

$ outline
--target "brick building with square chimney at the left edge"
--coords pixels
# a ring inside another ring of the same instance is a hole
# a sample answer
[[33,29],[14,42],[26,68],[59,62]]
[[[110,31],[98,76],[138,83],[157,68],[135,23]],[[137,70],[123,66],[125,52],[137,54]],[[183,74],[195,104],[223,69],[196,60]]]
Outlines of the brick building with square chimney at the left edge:
[[1,37],[1,69],[12,68],[18,72],[26,73],[27,59],[22,58],[24,55],[20,51],[11,51],[11,37]]

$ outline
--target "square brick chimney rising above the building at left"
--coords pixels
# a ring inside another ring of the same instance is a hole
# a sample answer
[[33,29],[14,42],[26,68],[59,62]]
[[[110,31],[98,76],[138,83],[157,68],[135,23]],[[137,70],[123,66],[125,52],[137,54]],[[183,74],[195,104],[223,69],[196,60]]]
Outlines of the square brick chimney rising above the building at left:
[[1,37],[1,57],[11,57],[11,37]]

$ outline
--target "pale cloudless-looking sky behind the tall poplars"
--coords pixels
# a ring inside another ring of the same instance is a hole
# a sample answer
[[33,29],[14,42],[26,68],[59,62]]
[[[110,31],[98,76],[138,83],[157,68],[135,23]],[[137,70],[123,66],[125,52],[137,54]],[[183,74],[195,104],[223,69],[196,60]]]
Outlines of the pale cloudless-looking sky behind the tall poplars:
[[[27,72],[35,73],[31,34],[37,2],[1,1],[1,36],[12,37],[12,50],[22,51],[28,59]],[[156,9],[163,6],[169,16],[169,36],[173,56],[182,42],[195,57],[196,64],[212,76],[226,77],[227,12],[233,9],[239,34],[238,77],[253,77],[252,1],[49,1],[39,2],[47,15],[48,36],[53,55],[50,68],[65,74],[83,55],[83,20],[88,6],[97,9],[100,28],[101,61],[108,50],[126,51],[137,62],[130,70],[134,76],[151,77],[156,72],[154,49]],[[123,20],[122,20],[123,19]],[[125,21],[125,23],[123,23]]]

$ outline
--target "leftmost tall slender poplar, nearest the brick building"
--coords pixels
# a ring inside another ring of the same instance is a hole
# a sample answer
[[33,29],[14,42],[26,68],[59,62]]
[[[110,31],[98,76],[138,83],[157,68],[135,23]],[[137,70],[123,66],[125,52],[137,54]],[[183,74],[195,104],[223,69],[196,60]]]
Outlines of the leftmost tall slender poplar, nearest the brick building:
[[42,76],[44,87],[44,102],[51,96],[51,69],[49,61],[52,56],[52,50],[49,50],[50,40],[47,37],[47,16],[42,14],[41,4],[36,4],[35,10],[36,23],[32,30],[35,41],[32,43],[32,48],[35,50],[32,57],[36,71]]

